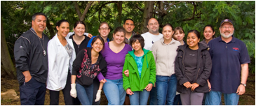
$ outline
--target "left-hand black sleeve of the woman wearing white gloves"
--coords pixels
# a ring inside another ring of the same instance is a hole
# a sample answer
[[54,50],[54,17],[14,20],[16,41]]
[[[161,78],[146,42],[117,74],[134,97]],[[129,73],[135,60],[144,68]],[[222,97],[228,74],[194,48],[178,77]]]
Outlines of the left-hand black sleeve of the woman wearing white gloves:
[[85,55],[85,50],[80,50],[80,52],[76,55],[76,59],[73,61],[72,75],[77,75],[81,68],[81,63],[83,62],[83,57]]

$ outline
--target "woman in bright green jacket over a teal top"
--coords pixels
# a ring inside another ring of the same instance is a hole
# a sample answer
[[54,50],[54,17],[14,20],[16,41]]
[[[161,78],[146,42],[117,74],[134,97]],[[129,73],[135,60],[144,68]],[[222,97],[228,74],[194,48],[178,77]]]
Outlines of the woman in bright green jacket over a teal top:
[[[149,93],[156,82],[156,63],[151,51],[143,49],[144,39],[140,35],[130,38],[133,51],[126,54],[123,65],[123,89],[129,94],[130,105],[147,105]],[[129,70],[126,77],[125,70]]]

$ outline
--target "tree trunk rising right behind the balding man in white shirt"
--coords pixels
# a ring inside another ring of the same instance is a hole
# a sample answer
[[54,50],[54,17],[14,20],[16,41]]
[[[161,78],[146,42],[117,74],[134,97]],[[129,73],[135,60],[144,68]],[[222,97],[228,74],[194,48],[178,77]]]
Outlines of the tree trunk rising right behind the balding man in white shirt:
[[149,31],[147,29],[147,22],[153,15],[153,8],[154,8],[154,1],[145,1],[142,26],[140,27],[141,33],[145,33]]

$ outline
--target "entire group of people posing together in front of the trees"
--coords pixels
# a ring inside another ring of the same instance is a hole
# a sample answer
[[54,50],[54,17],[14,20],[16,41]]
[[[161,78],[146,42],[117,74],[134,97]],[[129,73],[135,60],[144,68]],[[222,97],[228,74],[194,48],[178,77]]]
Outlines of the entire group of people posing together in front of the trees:
[[137,34],[132,19],[114,29],[100,23],[99,35],[85,33],[86,24],[58,21],[49,39],[43,31],[47,17],[32,16],[32,28],[15,42],[14,55],[21,105],[100,105],[102,90],[108,105],[237,105],[245,93],[250,58],[246,45],[234,38],[234,23],[220,23],[215,38],[211,25],[200,32],[151,18],[149,32]]

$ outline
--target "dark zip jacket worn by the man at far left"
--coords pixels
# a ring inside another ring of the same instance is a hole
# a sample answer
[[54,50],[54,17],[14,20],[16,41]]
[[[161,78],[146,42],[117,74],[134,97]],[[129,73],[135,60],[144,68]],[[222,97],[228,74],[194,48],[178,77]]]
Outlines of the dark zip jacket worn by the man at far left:
[[[17,78],[22,85],[25,82],[23,71],[29,73],[36,81],[46,83],[48,75],[47,45],[50,39],[43,33],[43,37],[36,36],[36,32],[30,29],[23,33],[14,45],[14,57],[17,70]],[[43,56],[43,48],[46,55]]]

